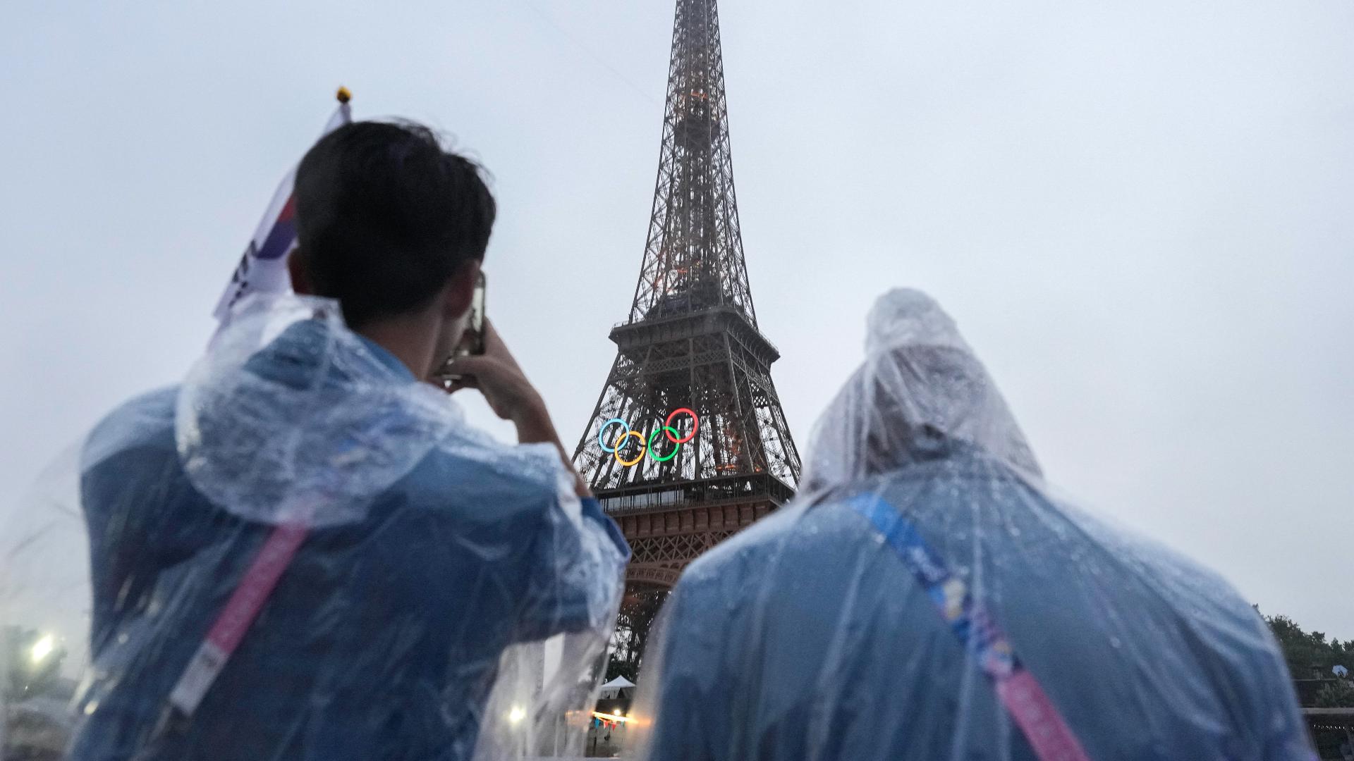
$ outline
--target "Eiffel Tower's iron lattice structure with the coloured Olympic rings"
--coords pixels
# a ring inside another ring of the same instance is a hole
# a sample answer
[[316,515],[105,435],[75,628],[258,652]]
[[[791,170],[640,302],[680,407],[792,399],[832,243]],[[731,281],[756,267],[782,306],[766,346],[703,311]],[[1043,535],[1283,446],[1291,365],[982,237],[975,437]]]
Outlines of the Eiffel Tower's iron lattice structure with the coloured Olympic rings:
[[630,542],[627,581],[670,586],[800,473],[747,284],[715,0],[677,0],[645,260],[611,340],[574,464]]

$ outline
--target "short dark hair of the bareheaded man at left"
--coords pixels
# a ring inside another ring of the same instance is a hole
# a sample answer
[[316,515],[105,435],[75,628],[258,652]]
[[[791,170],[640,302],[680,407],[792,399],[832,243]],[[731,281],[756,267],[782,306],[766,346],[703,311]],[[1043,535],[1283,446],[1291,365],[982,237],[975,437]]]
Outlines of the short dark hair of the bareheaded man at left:
[[416,310],[483,260],[494,196],[478,164],[409,122],[353,122],[297,169],[297,237],[315,295],[351,328]]

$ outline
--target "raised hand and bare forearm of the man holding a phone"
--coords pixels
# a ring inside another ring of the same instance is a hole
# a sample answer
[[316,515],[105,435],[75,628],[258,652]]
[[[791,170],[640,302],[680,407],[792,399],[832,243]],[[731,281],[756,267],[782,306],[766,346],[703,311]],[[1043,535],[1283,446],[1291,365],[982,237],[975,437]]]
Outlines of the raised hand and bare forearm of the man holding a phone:
[[[536,387],[527,380],[508,345],[498,337],[493,322],[485,320],[485,353],[458,356],[439,370],[439,375],[459,375],[460,379],[447,386],[447,393],[460,389],[478,389],[489,402],[494,414],[510,420],[517,427],[517,441],[523,444],[548,443],[559,451],[559,459],[574,474],[574,492],[580,497],[592,497],[592,490],[574,470],[559,433],[550,420],[546,402]],[[440,385],[440,383],[439,383]]]

